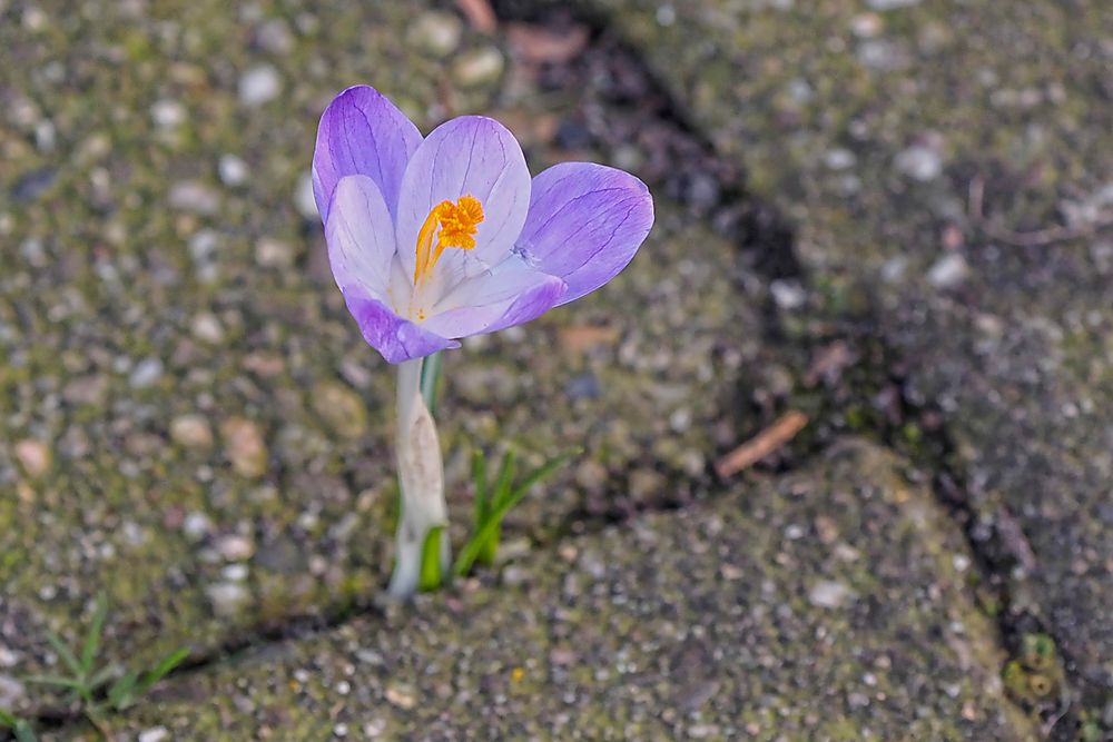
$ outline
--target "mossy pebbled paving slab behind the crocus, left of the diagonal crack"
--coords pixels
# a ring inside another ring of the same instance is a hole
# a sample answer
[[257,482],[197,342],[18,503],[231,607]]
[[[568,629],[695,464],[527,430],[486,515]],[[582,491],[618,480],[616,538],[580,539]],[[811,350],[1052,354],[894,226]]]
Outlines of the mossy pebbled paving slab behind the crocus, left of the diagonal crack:
[[[79,635],[99,591],[109,655],[187,644],[201,659],[364,605],[388,573],[393,375],[298,206],[314,126],[338,86],[365,80],[426,130],[449,113],[442,93],[453,112],[490,110],[492,76],[446,92],[441,70],[502,52],[463,31],[454,50],[406,46],[411,21],[439,12],[308,8],[283,10],[288,33],[266,3],[234,18],[200,3],[165,23],[90,7],[58,39],[4,37],[19,65],[0,72],[17,132],[0,140],[0,230],[19,247],[0,276],[0,432],[20,443],[0,447],[14,493],[0,499],[0,637],[20,673],[57,663],[45,630]],[[244,48],[239,29],[269,41]],[[121,69],[134,82],[118,91]],[[259,69],[284,87],[248,107]],[[18,133],[43,121],[50,154]],[[553,159],[533,155],[535,169]],[[737,370],[760,352],[761,289],[740,294],[742,276],[728,243],[661,199],[643,258],[605,291],[450,354],[454,538],[475,446],[513,442],[523,467],[591,453],[594,475],[562,473],[512,514],[509,543],[703,487]]]

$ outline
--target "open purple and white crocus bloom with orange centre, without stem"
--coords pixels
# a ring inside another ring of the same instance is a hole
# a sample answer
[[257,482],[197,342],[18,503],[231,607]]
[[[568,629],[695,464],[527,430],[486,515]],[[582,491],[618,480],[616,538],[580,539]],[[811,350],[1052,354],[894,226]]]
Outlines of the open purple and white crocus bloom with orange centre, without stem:
[[599,288],[653,224],[652,197],[628,172],[564,162],[531,179],[498,121],[463,116],[423,139],[367,86],[322,116],[313,192],[347,308],[392,364]]

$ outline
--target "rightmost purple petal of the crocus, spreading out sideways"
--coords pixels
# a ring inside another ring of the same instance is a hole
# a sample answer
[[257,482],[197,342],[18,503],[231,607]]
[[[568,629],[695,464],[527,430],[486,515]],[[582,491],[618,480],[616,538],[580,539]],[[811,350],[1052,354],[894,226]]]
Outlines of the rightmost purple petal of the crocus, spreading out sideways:
[[593,291],[633,259],[653,226],[653,197],[629,172],[590,162],[555,165],[533,179],[515,251],[568,283],[561,304]]

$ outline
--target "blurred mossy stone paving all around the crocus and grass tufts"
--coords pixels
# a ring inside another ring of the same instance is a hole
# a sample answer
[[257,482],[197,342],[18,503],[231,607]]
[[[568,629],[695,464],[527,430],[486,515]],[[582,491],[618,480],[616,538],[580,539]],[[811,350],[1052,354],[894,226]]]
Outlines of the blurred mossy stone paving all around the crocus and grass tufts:
[[[24,679],[104,592],[191,650],[120,740],[1113,739],[1111,70],[1104,0],[0,0],[0,709],[97,739]],[[658,212],[446,355],[455,527],[473,448],[585,453],[413,605],[355,83]]]

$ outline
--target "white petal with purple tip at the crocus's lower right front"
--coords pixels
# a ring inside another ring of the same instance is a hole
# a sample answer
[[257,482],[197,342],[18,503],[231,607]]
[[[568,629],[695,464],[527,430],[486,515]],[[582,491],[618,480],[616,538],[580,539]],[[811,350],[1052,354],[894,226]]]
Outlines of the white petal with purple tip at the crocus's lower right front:
[[467,337],[521,325],[556,306],[564,281],[510,256],[481,276],[462,280],[422,325],[444,337]]

